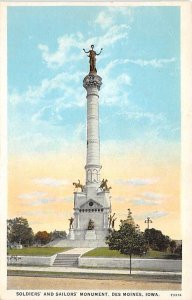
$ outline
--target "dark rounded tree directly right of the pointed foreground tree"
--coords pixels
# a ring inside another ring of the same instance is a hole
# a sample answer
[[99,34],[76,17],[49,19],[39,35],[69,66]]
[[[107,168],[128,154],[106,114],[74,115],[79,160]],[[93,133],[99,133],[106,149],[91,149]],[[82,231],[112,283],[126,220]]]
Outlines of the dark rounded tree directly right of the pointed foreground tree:
[[144,237],[148,241],[149,247],[153,250],[165,251],[170,245],[170,238],[154,228],[146,229]]

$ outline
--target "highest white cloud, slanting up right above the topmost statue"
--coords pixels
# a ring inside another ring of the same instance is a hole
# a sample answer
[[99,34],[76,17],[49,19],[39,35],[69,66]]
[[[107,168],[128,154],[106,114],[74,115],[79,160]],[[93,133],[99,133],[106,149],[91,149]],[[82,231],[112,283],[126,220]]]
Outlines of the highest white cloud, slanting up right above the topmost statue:
[[[124,24],[122,17],[126,18]],[[122,20],[119,24],[119,19]],[[95,20],[90,23],[90,28],[103,29],[103,32],[94,37],[84,36],[81,32],[63,35],[57,39],[57,49],[51,52],[46,44],[39,44],[38,49],[41,52],[43,62],[50,69],[57,69],[68,64],[71,61],[80,61],[83,59],[82,49],[95,44],[98,48],[111,48],[119,41],[124,41],[131,29],[134,20],[133,9],[123,8],[105,8],[95,16]],[[103,58],[103,56],[101,57]],[[100,57],[99,57],[100,59]]]

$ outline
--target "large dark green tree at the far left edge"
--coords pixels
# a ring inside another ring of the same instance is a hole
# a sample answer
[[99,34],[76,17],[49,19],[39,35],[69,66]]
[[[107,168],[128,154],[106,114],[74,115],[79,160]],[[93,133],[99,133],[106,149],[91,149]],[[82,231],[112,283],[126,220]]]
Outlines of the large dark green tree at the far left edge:
[[7,220],[7,243],[19,243],[31,245],[34,240],[34,233],[27,219],[18,217]]

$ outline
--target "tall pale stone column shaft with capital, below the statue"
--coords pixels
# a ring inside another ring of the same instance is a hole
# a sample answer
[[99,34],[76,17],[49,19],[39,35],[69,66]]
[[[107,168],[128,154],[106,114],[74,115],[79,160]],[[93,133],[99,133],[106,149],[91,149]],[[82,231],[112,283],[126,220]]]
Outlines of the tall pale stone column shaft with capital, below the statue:
[[99,90],[102,78],[96,73],[89,73],[83,80],[87,91],[87,159],[86,187],[100,185],[100,138],[99,138]]

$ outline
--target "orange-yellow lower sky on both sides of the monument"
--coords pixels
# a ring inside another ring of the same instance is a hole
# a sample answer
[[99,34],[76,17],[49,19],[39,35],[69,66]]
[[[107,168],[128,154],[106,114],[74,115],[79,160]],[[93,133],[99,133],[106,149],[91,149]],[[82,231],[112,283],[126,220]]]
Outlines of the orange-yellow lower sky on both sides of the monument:
[[[139,151],[127,156],[109,153],[101,159],[101,179],[107,178],[112,186],[116,229],[130,208],[142,231],[149,215],[151,227],[172,239],[181,239],[178,163],[174,159],[153,159],[149,153]],[[72,183],[77,179],[84,183],[84,157],[80,152],[11,156],[8,218],[27,218],[34,232],[67,231],[73,214]]]

